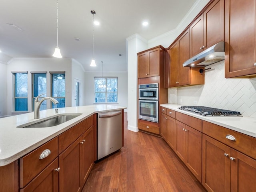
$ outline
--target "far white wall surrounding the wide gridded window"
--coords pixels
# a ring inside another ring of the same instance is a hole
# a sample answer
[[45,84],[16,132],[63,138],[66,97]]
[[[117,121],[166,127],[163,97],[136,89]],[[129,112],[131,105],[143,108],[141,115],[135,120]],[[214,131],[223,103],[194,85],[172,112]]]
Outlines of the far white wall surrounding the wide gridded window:
[[[85,72],[84,105],[94,104],[94,77],[101,77],[102,72]],[[118,77],[118,106],[128,106],[127,72],[104,72],[103,76]]]

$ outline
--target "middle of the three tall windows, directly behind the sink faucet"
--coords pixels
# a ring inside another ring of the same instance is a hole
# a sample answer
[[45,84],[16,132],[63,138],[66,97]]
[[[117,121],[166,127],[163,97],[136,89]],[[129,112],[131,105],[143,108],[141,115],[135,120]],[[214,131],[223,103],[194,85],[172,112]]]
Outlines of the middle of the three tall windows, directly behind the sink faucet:
[[[43,98],[46,96],[46,72],[45,73],[32,73],[32,94],[33,94],[33,110],[34,110],[34,100],[36,97],[40,94],[42,95],[40,98]],[[44,100],[40,106],[39,110],[45,110],[46,109],[46,100]]]

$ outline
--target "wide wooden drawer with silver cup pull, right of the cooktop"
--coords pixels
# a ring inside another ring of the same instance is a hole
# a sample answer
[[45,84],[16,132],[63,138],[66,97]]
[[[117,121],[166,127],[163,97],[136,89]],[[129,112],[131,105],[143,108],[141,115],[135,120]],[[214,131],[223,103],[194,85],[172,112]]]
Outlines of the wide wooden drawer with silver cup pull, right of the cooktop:
[[[224,128],[222,126],[203,121],[203,133],[256,159],[256,138]],[[226,138],[232,135],[236,141]]]

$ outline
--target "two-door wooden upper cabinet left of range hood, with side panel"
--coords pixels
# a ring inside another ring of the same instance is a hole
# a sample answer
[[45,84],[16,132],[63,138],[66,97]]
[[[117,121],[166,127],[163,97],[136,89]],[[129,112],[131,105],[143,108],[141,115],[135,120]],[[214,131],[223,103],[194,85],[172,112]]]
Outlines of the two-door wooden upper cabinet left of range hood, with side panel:
[[[190,58],[190,30],[170,46],[170,87],[204,84],[199,68],[183,67]],[[167,67],[166,67],[167,68]]]

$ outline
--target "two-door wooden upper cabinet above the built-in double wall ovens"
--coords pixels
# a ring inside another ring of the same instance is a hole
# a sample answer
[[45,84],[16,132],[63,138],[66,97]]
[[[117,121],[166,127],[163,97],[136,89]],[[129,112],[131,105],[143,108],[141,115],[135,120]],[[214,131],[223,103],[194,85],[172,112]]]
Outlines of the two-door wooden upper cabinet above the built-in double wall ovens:
[[157,46],[138,54],[138,78],[160,75],[160,66],[164,66],[164,48]]

